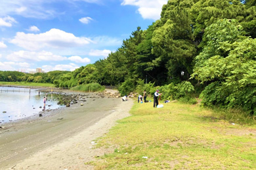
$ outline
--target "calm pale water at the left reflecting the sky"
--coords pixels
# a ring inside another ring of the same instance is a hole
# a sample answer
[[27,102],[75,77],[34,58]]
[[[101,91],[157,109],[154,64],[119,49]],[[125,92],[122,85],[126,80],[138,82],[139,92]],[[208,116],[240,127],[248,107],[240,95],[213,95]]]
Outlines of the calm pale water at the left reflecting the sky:
[[[38,116],[43,110],[43,97],[37,89],[0,87],[0,122],[6,123],[30,116]],[[57,95],[48,93],[45,110],[60,108]],[[49,106],[51,105],[51,106]],[[42,108],[39,108],[39,107]],[[6,112],[6,113],[3,113]]]

